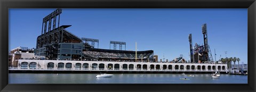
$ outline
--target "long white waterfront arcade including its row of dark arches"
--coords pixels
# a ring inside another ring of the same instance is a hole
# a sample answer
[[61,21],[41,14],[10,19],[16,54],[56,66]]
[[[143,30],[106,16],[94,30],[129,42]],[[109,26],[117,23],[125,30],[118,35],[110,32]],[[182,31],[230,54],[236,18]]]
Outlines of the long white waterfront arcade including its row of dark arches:
[[[70,60],[19,60],[16,71],[115,71],[115,72],[201,72],[227,73],[227,64],[117,62],[117,61],[70,61]],[[12,71],[11,71],[12,72]]]

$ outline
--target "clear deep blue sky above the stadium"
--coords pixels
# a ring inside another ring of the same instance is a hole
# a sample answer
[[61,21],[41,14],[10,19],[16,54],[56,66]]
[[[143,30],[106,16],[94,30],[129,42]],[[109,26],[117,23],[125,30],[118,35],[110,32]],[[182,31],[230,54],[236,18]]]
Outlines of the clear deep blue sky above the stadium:
[[[54,10],[9,9],[9,50],[35,48],[43,18]],[[137,42],[139,51],[154,50],[158,59],[164,55],[169,61],[180,54],[190,60],[188,35],[193,46],[202,45],[204,23],[213,60],[215,49],[217,60],[227,51],[227,57],[247,63],[247,9],[63,9],[60,15],[60,26],[72,25],[67,28],[72,34],[99,39],[99,48],[109,49],[113,40],[135,51]]]

